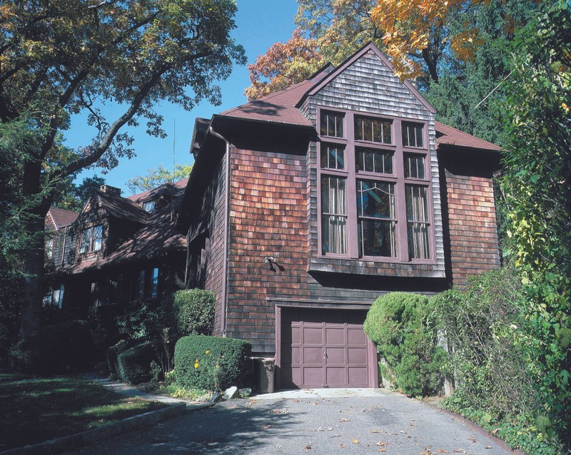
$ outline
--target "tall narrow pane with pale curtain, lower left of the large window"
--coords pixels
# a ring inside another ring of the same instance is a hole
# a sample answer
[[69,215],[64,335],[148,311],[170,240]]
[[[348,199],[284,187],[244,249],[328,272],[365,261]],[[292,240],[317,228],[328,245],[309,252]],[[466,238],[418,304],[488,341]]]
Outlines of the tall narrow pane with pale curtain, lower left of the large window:
[[345,179],[323,175],[321,178],[321,251],[347,253]]

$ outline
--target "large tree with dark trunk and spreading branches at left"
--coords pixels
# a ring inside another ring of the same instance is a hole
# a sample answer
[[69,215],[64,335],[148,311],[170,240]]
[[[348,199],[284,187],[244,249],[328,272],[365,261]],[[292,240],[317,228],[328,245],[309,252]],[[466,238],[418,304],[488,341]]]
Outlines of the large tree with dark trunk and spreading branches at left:
[[[26,232],[39,232],[61,180],[93,165],[108,169],[134,155],[124,126],[146,119],[164,137],[153,107],[167,100],[191,109],[219,103],[214,81],[244,53],[229,38],[232,0],[39,0],[0,6],[0,121],[24,122],[18,190],[27,206]],[[111,104],[114,118],[101,106]],[[79,150],[57,146],[76,113],[94,131]],[[39,326],[43,242],[25,252],[26,303],[20,334]]]

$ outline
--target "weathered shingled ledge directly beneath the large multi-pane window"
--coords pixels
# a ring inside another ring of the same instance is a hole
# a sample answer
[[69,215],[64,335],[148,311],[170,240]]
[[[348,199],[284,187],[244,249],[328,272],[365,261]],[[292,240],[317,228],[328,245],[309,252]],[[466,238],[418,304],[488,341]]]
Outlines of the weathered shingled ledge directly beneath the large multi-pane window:
[[338,257],[312,257],[308,272],[346,273],[378,277],[446,277],[444,264],[437,262],[398,262],[398,260],[380,262]]

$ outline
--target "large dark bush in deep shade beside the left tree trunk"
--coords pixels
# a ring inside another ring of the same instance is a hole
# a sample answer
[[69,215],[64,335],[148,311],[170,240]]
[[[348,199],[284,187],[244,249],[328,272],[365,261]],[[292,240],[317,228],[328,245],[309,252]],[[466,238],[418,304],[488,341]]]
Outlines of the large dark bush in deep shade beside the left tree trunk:
[[32,332],[11,349],[12,366],[32,374],[63,374],[91,360],[91,332],[84,321],[49,325]]

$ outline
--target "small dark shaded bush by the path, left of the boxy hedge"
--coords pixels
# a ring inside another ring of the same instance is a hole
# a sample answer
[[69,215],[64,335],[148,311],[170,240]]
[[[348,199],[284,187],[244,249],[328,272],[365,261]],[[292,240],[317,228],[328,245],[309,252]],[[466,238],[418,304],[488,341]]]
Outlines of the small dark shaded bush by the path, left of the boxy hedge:
[[151,363],[157,363],[157,347],[154,343],[137,344],[117,355],[118,377],[129,384],[149,382],[153,379]]

